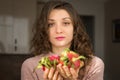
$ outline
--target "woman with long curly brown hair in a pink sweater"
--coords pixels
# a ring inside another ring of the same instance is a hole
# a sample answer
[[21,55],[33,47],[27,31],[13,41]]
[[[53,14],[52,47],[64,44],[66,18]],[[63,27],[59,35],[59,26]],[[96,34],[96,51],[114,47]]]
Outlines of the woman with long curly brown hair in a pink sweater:
[[[33,72],[41,57],[59,55],[65,48],[87,58],[83,68],[68,69],[59,64],[57,69],[52,67]],[[75,9],[67,2],[49,1],[44,5],[34,27],[32,50],[36,56],[22,64],[21,80],[103,80],[104,63],[93,55],[84,25]]]

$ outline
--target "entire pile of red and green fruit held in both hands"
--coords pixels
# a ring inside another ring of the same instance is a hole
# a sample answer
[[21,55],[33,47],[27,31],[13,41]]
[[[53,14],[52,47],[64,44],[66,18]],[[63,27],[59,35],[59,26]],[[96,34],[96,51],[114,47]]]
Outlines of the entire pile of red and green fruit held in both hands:
[[83,66],[83,64],[81,65],[81,61],[85,59],[86,58],[84,56],[81,56],[81,55],[79,56],[79,54],[77,54],[76,52],[66,48],[60,54],[60,56],[50,55],[47,57],[42,57],[36,68],[42,68],[44,71],[45,68],[56,67],[56,65],[62,64],[62,65],[68,66],[69,68],[73,67],[77,69]]

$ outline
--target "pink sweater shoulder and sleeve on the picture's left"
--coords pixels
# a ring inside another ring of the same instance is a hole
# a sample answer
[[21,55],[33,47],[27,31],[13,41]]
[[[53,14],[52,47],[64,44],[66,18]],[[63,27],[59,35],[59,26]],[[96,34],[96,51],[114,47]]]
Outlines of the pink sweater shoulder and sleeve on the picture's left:
[[37,67],[40,59],[44,56],[46,55],[41,54],[38,56],[30,57],[30,58],[27,58],[22,63],[22,66],[21,66],[21,79],[22,80],[33,80],[33,78],[34,80],[38,80],[38,77],[42,78],[42,75],[39,75],[39,74],[42,74],[42,70],[41,69],[36,70],[35,73],[34,73],[34,70]]

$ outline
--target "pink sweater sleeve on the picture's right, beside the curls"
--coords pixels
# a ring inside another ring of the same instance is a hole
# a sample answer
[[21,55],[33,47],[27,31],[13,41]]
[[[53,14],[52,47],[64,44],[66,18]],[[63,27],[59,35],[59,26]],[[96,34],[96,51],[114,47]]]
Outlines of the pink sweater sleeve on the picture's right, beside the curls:
[[104,63],[103,61],[95,57],[92,60],[92,64],[88,70],[88,73],[85,75],[83,80],[103,80],[104,77]]

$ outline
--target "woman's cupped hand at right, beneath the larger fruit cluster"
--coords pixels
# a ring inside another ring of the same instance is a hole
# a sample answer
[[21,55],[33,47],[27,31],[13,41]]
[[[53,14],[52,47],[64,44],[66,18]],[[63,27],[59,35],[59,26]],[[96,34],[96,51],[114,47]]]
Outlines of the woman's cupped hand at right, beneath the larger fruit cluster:
[[58,64],[57,69],[65,79],[77,80],[80,68],[75,70],[74,68],[68,68],[67,66],[62,66],[61,64]]

